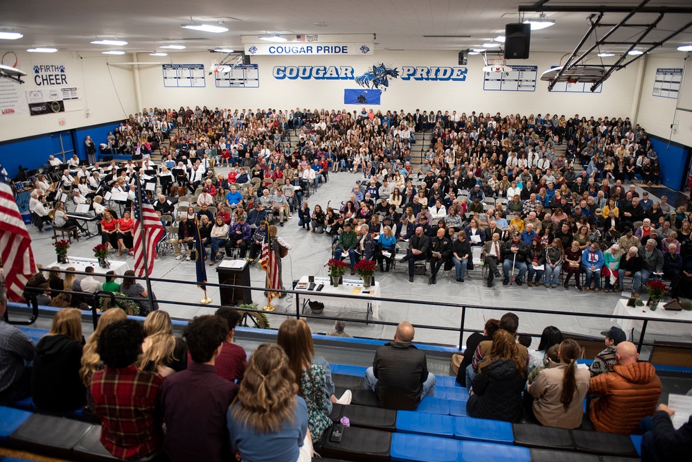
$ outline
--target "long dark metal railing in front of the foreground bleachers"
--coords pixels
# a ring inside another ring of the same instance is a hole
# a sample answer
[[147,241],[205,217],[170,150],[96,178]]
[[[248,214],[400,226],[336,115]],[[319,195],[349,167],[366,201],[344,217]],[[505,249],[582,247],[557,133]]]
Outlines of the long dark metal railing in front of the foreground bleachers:
[[[85,276],[87,273],[85,272],[66,272],[66,271],[61,271],[62,273],[65,274],[77,274],[77,275],[82,275]],[[122,276],[116,276],[118,278],[121,278]],[[179,281],[176,279],[168,279],[168,278],[150,278],[150,281],[152,283],[170,283],[170,284],[175,284],[175,285],[197,285],[196,281]],[[206,283],[207,285],[207,290],[209,290],[210,287],[220,287],[224,289],[231,289],[231,290],[250,290],[252,292],[260,292],[260,296],[263,297],[263,293],[266,291],[265,287],[247,287],[245,285],[229,285],[229,284],[218,284],[218,283]],[[55,292],[66,292],[66,291],[55,291]],[[391,321],[380,321],[378,319],[364,319],[364,318],[355,318],[355,317],[349,317],[345,318],[344,316],[339,316],[339,317],[330,317],[325,314],[319,314],[319,315],[314,315],[314,314],[303,314],[303,301],[306,299],[309,299],[309,294],[306,293],[304,290],[281,290],[278,292],[285,293],[289,297],[294,297],[293,300],[291,300],[292,303],[290,304],[289,308],[287,309],[286,312],[278,312],[274,311],[271,312],[272,315],[274,316],[281,316],[281,317],[295,317],[296,319],[316,319],[316,320],[321,320],[321,321],[348,321],[348,323],[364,323],[364,324],[375,324],[375,325],[380,325],[380,326],[392,326],[396,327],[398,325],[398,322],[391,322]],[[170,294],[172,292],[166,291],[166,293]],[[200,292],[201,294],[201,292]],[[94,323],[94,328],[96,328],[96,323],[98,322],[98,312],[100,310],[100,301],[102,297],[107,296],[109,299],[112,300],[117,300],[117,299],[128,299],[128,300],[134,300],[134,301],[144,301],[144,300],[149,300],[150,305],[153,305],[151,303],[152,299],[145,299],[141,297],[122,297],[122,296],[116,296],[114,294],[106,294],[105,292],[98,292],[96,296],[93,296],[92,294],[85,294],[85,302],[90,306],[90,312],[91,312],[91,317],[92,321]],[[151,297],[152,294],[149,293],[149,296]],[[348,294],[319,294],[320,299],[334,299],[335,304],[338,303],[339,299],[351,299],[351,295]],[[402,303],[400,299],[391,299],[387,297],[373,297],[371,299],[372,301],[380,301],[382,303],[391,303],[393,305],[400,304]],[[185,302],[185,301],[177,301],[177,300],[172,300],[172,299],[155,299],[155,301],[158,303],[158,305],[176,305],[176,306],[193,306],[193,307],[199,307],[199,308],[221,308],[222,305],[220,304],[215,304],[211,303],[209,305],[202,305],[201,303],[194,303],[194,302]],[[580,312],[561,312],[561,311],[551,311],[551,310],[540,310],[540,309],[529,309],[529,308],[510,308],[510,307],[499,307],[499,306],[481,306],[481,305],[470,305],[468,303],[449,303],[449,302],[436,302],[436,301],[423,301],[423,300],[417,300],[416,301],[417,305],[422,305],[423,307],[425,306],[430,306],[430,307],[443,307],[443,308],[456,308],[459,310],[459,315],[460,315],[460,325],[459,327],[452,327],[452,326],[439,326],[439,325],[432,325],[432,324],[414,324],[414,328],[416,329],[429,329],[429,330],[438,330],[438,331],[446,331],[446,332],[459,332],[459,349],[462,349],[463,346],[463,337],[465,333],[470,333],[470,332],[482,332],[482,330],[470,328],[466,326],[466,321],[470,315],[470,313],[481,310],[483,312],[499,312],[497,314],[497,317],[502,316],[504,312],[515,312],[515,313],[526,313],[526,314],[546,314],[549,316],[555,316],[555,317],[577,317],[577,318],[596,318],[596,319],[637,319],[644,321],[644,328],[642,328],[639,339],[637,341],[637,348],[638,350],[641,351],[642,346],[654,346],[654,341],[649,341],[646,342],[645,337],[646,337],[646,321],[647,319],[644,317],[633,317],[633,316],[619,316],[616,314],[595,314],[595,313],[580,313]],[[30,318],[28,320],[14,320],[14,319],[8,319],[10,323],[17,324],[17,325],[30,325],[35,322],[37,317],[39,316],[39,308],[37,303],[35,301],[28,301],[26,304],[31,308],[30,312]],[[8,308],[11,307],[19,307],[19,304],[17,303],[9,303]],[[243,312],[257,312],[257,310],[246,310],[238,307],[233,307],[237,308],[240,311]],[[7,316],[7,315],[6,315]],[[175,314],[172,315],[172,317],[175,318]],[[656,319],[656,322],[667,322],[667,323],[686,323],[690,325],[690,329],[692,330],[692,321],[684,321],[684,320],[666,320],[666,319]],[[522,332],[524,335],[529,335],[531,337],[540,337],[541,332]],[[627,332],[628,335],[630,332]],[[585,339],[589,338],[588,335],[583,335],[579,334],[578,332],[573,332],[571,334],[568,334],[570,337],[583,337]],[[600,337],[599,337],[600,338]],[[683,347],[685,348],[685,347]]]

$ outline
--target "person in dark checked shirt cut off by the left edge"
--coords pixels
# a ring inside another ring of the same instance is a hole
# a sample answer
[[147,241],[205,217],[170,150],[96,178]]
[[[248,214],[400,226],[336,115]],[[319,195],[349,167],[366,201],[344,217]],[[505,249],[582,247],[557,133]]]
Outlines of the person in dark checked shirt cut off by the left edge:
[[5,321],[7,292],[0,276],[0,405],[22,400],[31,393],[31,368],[34,342],[24,332]]

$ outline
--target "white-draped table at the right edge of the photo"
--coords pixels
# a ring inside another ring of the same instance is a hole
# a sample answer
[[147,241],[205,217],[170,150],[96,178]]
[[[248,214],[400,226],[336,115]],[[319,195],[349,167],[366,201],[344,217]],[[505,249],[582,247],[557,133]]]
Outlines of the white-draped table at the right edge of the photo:
[[[659,303],[656,311],[651,311],[648,306],[628,306],[628,299],[620,299],[615,305],[614,316],[627,316],[626,319],[613,318],[626,333],[632,329],[639,330],[639,344],[644,341],[644,334],[679,335],[685,341],[692,338],[692,311],[673,311],[663,308],[664,303]],[[657,322],[658,321],[658,322]],[[678,322],[662,322],[678,321]]]

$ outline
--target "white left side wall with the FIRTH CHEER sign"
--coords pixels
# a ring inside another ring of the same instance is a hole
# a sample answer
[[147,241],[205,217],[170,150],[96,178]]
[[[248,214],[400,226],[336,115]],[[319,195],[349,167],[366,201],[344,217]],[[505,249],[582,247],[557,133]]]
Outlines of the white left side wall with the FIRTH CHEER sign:
[[[5,51],[0,51],[0,55]],[[0,141],[26,136],[71,130],[124,119],[136,108],[132,66],[108,66],[107,62],[132,61],[132,56],[83,55],[77,53],[26,53],[15,51],[19,69],[28,75],[21,86],[24,91],[37,89],[33,64],[65,64],[69,87],[77,87],[80,99],[66,100],[65,112],[30,116],[0,116]],[[86,116],[85,109],[89,109]],[[64,118],[65,124],[58,122]]]

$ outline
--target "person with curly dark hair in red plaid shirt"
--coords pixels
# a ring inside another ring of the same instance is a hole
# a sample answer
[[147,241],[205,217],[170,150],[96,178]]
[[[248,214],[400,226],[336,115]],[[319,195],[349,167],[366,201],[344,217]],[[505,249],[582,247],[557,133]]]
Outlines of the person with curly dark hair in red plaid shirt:
[[105,368],[94,372],[91,396],[101,420],[101,444],[121,459],[156,455],[163,445],[157,397],[163,377],[139,371],[144,329],[134,319],[116,321],[100,337],[96,353]]

